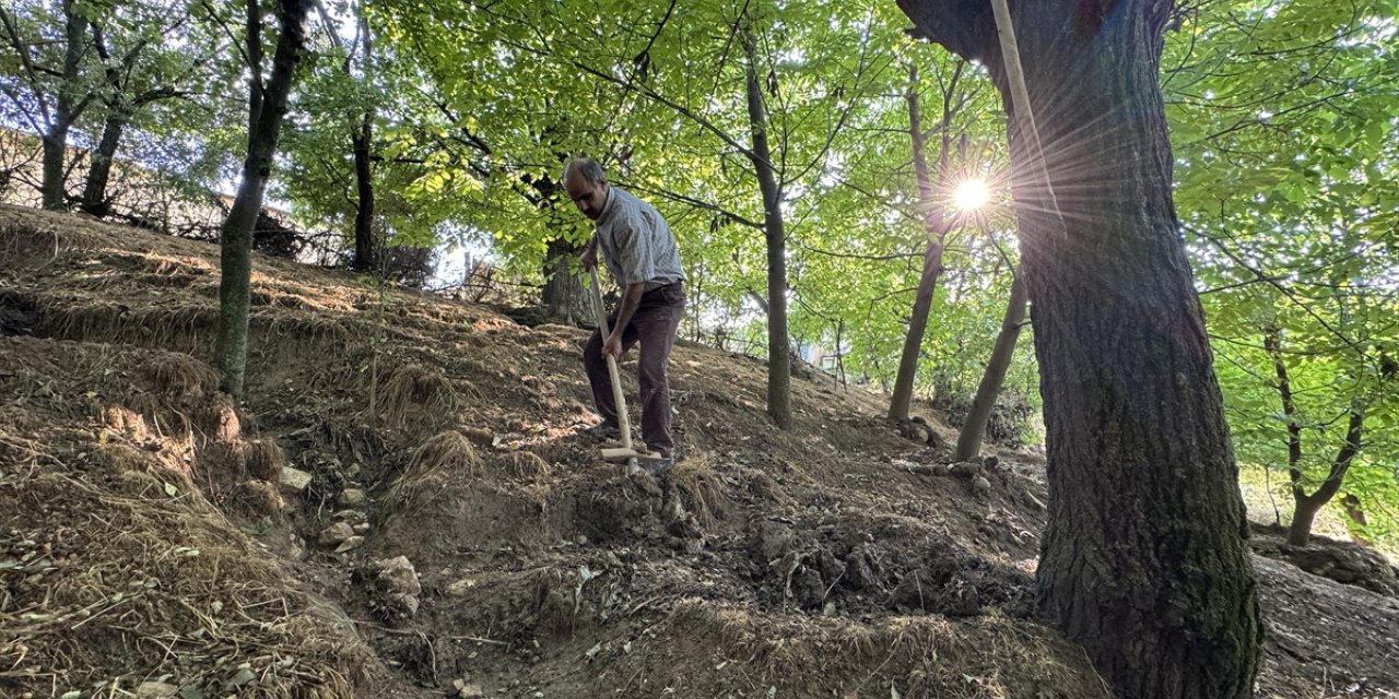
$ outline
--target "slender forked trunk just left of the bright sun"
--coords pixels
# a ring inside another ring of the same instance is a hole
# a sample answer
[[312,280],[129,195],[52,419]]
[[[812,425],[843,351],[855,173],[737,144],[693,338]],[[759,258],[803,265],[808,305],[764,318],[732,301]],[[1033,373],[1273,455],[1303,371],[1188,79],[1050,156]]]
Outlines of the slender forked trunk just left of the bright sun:
[[[958,70],[958,75],[961,71]],[[908,407],[914,401],[914,380],[918,376],[918,358],[923,348],[923,333],[928,331],[928,313],[933,308],[933,294],[937,291],[937,277],[943,271],[943,250],[946,249],[950,221],[946,211],[933,201],[933,180],[928,172],[928,157],[923,144],[923,120],[918,109],[918,69],[909,69],[908,88],[908,133],[914,140],[914,172],[918,178],[918,204],[923,210],[923,225],[928,229],[928,246],[923,249],[923,273],[918,278],[914,294],[914,309],[908,317],[908,334],[904,336],[904,352],[898,359],[898,376],[894,379],[894,394],[888,401],[890,419],[908,419]],[[957,78],[953,78],[953,88]],[[943,145],[937,155],[937,176],[943,176],[947,165],[950,138],[947,122],[951,99],[943,98]]]

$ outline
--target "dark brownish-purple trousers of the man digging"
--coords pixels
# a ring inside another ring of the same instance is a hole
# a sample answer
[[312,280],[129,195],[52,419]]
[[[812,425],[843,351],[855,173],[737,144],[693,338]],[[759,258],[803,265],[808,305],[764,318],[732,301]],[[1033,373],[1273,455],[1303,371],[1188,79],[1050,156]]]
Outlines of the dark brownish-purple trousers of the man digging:
[[[628,352],[641,343],[641,439],[648,449],[672,456],[674,440],[670,438],[670,386],[666,380],[666,362],[670,348],[676,344],[676,330],[686,312],[684,282],[676,282],[641,295],[641,303],[631,316],[631,323],[621,333],[621,351]],[[617,312],[607,316],[607,327],[617,322]],[[603,356],[603,338],[599,333],[588,340],[583,348],[583,369],[588,383],[593,387],[593,403],[603,421],[617,425],[617,404],[613,400],[611,376],[607,373],[607,359]]]

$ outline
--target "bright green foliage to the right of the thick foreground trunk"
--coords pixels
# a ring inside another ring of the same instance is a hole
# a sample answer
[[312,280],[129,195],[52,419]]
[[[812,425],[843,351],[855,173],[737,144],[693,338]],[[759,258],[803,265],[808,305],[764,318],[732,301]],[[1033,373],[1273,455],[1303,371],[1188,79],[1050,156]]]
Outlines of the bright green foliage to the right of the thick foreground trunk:
[[1399,523],[1399,391],[1385,376],[1399,354],[1395,11],[1385,1],[1205,3],[1172,38],[1163,80],[1177,201],[1235,452],[1286,481],[1288,425],[1263,351],[1276,327],[1305,491],[1329,473],[1349,411],[1364,408],[1363,450],[1342,492],[1370,503],[1372,533],[1389,537]]

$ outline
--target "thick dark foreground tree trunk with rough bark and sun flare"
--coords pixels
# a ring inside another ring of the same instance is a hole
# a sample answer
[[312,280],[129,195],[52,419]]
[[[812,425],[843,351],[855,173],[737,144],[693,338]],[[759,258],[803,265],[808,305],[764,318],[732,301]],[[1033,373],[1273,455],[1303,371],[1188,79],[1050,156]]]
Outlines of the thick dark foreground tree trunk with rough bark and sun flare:
[[[1010,105],[990,7],[898,0]],[[1238,470],[1171,201],[1157,87],[1171,3],[1017,3],[1045,165],[1011,119],[1045,404],[1039,604],[1119,696],[1252,696],[1262,625]]]

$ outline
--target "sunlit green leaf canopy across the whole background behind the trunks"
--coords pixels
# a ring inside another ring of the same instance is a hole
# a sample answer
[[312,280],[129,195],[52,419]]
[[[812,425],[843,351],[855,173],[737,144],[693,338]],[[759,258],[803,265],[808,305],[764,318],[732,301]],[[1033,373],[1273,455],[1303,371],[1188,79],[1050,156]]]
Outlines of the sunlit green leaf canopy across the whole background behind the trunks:
[[[126,94],[182,92],[133,115],[123,155],[190,190],[231,182],[246,141],[245,6],[74,7],[105,28],[113,56],[143,46]],[[783,194],[793,350],[838,351],[846,376],[874,386],[897,369],[928,240],[908,133],[909,67],[929,159],[944,137],[950,148],[935,199],[967,176],[997,182],[1006,169],[1004,115],[985,73],[908,39],[907,18],[887,0],[330,0],[326,8],[333,27],[315,20],[271,183],[302,221],[350,235],[351,133],[371,115],[376,233],[487,246],[530,284],[550,250],[569,247],[560,242],[590,235],[557,179],[568,158],[595,157],[677,232],[690,275],[686,334],[722,336],[761,356],[767,261],[739,43],[740,22],[751,20]],[[14,34],[49,67],[62,63],[60,10],[7,6]],[[1263,350],[1265,330],[1276,327],[1308,492],[1340,449],[1346,411],[1364,407],[1363,452],[1342,492],[1365,503],[1371,535],[1393,540],[1399,391],[1385,366],[1399,359],[1396,7],[1200,0],[1177,11],[1161,75],[1177,207],[1235,452],[1286,482],[1287,424]],[[0,52],[0,119],[42,131],[41,99],[91,94],[73,134],[91,147],[118,103],[94,56],[64,85],[53,71],[28,74],[20,52]],[[1017,257],[1007,199],[1002,192],[949,238],[919,370],[919,393],[949,405],[972,394],[1004,312]],[[1030,343],[1021,338],[1006,393],[1035,401]]]

